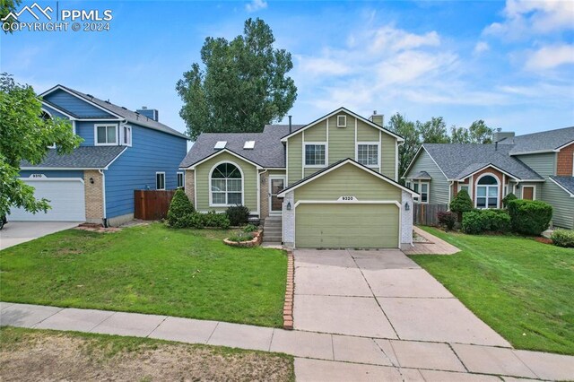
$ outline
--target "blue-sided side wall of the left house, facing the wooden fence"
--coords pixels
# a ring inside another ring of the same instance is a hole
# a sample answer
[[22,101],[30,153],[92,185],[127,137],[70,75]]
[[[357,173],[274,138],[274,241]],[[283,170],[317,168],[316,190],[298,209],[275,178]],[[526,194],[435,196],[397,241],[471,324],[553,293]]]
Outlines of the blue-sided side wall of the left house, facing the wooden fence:
[[155,189],[155,172],[164,171],[166,189],[175,189],[187,140],[130,124],[132,147],[104,172],[108,218],[134,213],[134,190]]

